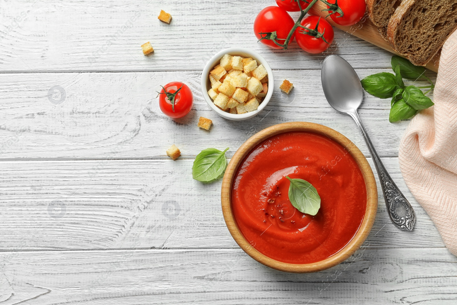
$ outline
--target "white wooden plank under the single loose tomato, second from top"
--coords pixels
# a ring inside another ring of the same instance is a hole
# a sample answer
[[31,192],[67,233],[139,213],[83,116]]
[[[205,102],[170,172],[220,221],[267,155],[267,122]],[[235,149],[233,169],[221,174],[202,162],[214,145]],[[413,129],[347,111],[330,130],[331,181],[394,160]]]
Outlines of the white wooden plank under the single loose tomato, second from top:
[[[388,70],[357,73],[363,78],[381,71]],[[218,117],[203,100],[198,71],[0,74],[0,160],[167,158],[171,144],[185,157],[213,146],[230,147],[232,155],[250,135],[291,121],[334,128],[369,155],[356,124],[325,100],[320,70],[275,70],[274,75],[275,93],[266,109],[250,120],[232,122]],[[279,90],[286,78],[295,85],[290,95]],[[186,82],[194,93],[192,111],[177,120],[159,110],[155,92],[174,80]],[[359,111],[381,156],[398,155],[408,124],[389,123],[389,109],[388,99],[366,94]],[[197,128],[200,116],[213,120],[209,132]]]

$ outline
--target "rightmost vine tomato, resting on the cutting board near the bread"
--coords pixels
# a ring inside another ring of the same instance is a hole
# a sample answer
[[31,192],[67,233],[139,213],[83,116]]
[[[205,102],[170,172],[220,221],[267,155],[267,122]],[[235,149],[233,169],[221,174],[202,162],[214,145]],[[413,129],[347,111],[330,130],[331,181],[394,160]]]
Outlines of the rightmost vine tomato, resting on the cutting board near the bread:
[[[329,3],[335,4],[336,0],[328,0]],[[340,13],[330,15],[335,23],[341,26],[349,27],[360,21],[365,15],[367,4],[365,0],[338,0],[338,6],[343,11],[343,16]],[[327,5],[329,8],[329,5]]]

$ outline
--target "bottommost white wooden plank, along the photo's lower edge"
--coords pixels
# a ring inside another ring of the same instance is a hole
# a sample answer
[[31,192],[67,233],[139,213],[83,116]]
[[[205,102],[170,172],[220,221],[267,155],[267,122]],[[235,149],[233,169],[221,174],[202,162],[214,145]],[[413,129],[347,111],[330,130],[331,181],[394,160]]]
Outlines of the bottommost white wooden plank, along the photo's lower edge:
[[[240,249],[0,254],[5,305],[455,304],[446,248],[369,248],[308,274],[266,268]],[[0,286],[1,287],[1,286]],[[17,294],[16,294],[17,291]],[[25,294],[24,292],[27,292]]]

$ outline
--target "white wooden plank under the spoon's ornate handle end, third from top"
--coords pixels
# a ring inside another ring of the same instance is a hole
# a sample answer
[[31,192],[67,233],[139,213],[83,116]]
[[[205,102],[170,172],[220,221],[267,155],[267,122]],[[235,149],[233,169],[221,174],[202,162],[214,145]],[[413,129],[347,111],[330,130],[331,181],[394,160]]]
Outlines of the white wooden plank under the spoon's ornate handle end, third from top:
[[[369,162],[372,165],[371,158]],[[398,158],[383,162],[413,205],[417,221],[413,232],[396,229],[379,197],[370,244],[444,246],[405,186]],[[188,159],[0,162],[0,250],[238,247],[223,220],[221,180],[205,184],[193,180],[192,163]]]

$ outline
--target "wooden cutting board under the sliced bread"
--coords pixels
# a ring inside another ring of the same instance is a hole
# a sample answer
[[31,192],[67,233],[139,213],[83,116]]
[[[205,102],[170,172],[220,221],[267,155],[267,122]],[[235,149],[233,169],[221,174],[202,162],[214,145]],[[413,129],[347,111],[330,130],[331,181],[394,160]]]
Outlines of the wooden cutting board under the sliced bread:
[[[322,11],[322,10],[324,10],[326,8],[327,8],[327,5],[318,1],[313,6],[313,8],[311,10],[309,10],[309,13],[313,14],[313,15],[325,17],[325,16],[327,16],[328,13],[326,11]],[[335,22],[333,22],[333,20],[330,17],[328,17],[326,20],[329,21],[329,23],[334,27],[338,27],[339,29],[341,29],[349,34],[359,37],[374,45],[377,45],[378,47],[383,48],[384,50],[388,50],[389,52],[392,52],[393,54],[397,54],[390,47],[389,43],[384,40],[384,38],[381,36],[381,34],[379,34],[377,27],[368,18],[368,14],[366,14],[365,17],[362,19],[363,22],[362,21],[357,22],[355,25],[353,25],[351,27],[340,26],[339,24],[336,24]],[[400,55],[400,54],[397,54],[397,55]],[[425,65],[425,68],[438,72],[439,62],[440,62],[440,55],[438,53],[435,55],[435,57],[432,60],[430,60],[430,62],[427,65]]]

